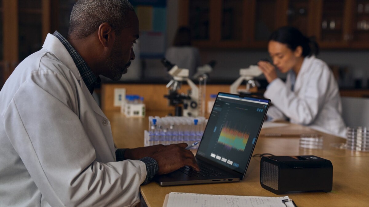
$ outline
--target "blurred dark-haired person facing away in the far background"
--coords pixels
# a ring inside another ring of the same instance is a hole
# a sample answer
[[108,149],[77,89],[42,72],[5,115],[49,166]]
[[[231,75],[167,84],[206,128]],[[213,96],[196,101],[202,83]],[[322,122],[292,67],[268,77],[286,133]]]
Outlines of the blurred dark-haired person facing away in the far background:
[[179,68],[189,69],[189,77],[196,73],[200,66],[200,54],[197,48],[191,46],[191,31],[188,27],[177,29],[173,46],[165,52],[165,58]]

